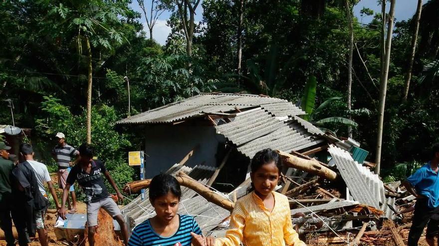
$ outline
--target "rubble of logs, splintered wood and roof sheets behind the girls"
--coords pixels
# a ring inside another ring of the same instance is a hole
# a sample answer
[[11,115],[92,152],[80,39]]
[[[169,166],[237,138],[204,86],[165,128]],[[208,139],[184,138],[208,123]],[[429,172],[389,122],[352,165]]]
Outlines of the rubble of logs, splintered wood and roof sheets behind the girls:
[[[290,198],[295,230],[307,245],[405,245],[415,197],[400,187],[401,182],[383,183],[371,171],[374,164],[354,161],[347,151],[350,142],[304,153],[279,151],[285,169],[277,192]],[[317,156],[328,161],[317,161]],[[216,177],[213,167],[175,164],[167,172],[185,186],[179,213],[194,216],[206,235],[223,236],[234,202],[247,193],[249,178],[225,194],[208,185]],[[148,184],[137,181],[124,190],[147,189]],[[122,209],[132,228],[155,215],[147,194],[146,190],[143,200],[139,196]]]

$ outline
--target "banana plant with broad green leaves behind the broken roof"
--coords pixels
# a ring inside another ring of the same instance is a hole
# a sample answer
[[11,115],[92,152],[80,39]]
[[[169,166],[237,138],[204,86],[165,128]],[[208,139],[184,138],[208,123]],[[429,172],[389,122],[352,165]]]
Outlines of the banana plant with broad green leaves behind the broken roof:
[[341,97],[331,97],[324,102],[322,102],[316,109],[314,109],[315,106],[315,95],[316,95],[316,89],[317,89],[317,79],[315,76],[309,77],[308,81],[305,84],[304,93],[302,96],[302,100],[300,103],[300,106],[302,110],[305,111],[305,115],[302,116],[304,120],[307,120],[314,125],[317,126],[323,126],[326,123],[337,123],[345,126],[352,126],[357,127],[358,124],[350,119],[346,119],[343,117],[327,117],[320,119],[319,114],[327,108],[331,102],[340,100]]

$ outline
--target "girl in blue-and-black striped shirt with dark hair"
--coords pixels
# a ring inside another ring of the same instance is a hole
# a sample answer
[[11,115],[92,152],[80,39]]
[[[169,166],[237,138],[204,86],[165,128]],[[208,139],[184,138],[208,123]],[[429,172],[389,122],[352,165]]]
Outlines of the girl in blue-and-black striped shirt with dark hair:
[[156,216],[134,228],[128,246],[191,246],[192,235],[201,235],[192,216],[177,214],[182,191],[177,179],[159,174],[150,183],[149,199]]

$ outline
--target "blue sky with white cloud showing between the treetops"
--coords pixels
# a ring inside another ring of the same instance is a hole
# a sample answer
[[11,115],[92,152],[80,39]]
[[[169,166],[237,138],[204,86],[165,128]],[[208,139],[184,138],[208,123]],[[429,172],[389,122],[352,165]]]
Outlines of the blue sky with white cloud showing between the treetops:
[[[150,0],[146,0],[146,3],[150,3]],[[413,16],[416,12],[418,0],[398,0],[395,5],[395,19],[396,21],[407,20]],[[390,3],[387,4],[387,11],[389,11]],[[146,25],[145,16],[143,14],[142,9],[139,7],[137,0],[133,0],[131,3],[131,7],[142,13],[142,23],[145,27],[145,32],[149,36],[149,31]],[[363,7],[371,8],[375,12],[381,12],[381,5],[378,5],[378,0],[360,0],[360,2],[354,7],[354,14],[357,16],[358,20],[362,23],[369,23],[373,16],[360,16],[360,10]],[[153,30],[153,38],[159,42],[159,44],[164,45],[166,43],[166,39],[168,38],[169,33],[171,32],[171,28],[167,26],[166,20],[169,18],[171,13],[169,11],[164,12],[156,22]],[[201,21],[203,19],[203,7],[200,5],[196,9],[195,21]]]

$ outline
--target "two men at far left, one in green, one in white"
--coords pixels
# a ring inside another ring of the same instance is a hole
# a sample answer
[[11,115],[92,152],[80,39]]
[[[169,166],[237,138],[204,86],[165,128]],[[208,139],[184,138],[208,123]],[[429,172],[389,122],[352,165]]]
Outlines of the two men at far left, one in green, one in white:
[[48,196],[47,184],[56,206],[60,207],[46,165],[33,160],[30,144],[20,145],[23,162],[9,161],[10,147],[0,142],[0,220],[6,246],[14,246],[12,221],[18,233],[19,246],[27,246],[29,237],[38,233],[41,246],[47,246],[47,231],[44,227]]

